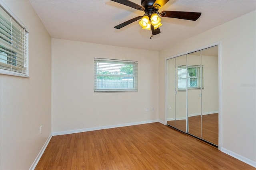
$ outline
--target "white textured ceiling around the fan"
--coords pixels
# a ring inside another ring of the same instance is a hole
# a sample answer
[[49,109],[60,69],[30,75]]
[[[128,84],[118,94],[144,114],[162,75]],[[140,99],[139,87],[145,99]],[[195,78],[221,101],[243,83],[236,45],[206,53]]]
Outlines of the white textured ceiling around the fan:
[[[255,0],[170,0],[163,10],[201,12],[197,21],[163,18],[150,39],[138,21],[144,12],[110,0],[29,0],[52,38],[159,51],[256,9]],[[132,0],[140,5],[140,0]],[[256,22],[256,21],[254,21]],[[207,37],[206,37],[207,38]]]

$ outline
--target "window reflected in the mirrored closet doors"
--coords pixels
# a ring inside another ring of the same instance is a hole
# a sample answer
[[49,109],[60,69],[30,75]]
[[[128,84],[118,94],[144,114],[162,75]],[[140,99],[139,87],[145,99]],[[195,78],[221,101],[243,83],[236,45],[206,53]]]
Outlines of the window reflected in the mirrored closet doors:
[[186,90],[186,85],[188,90],[204,88],[203,66],[178,65],[178,90]]

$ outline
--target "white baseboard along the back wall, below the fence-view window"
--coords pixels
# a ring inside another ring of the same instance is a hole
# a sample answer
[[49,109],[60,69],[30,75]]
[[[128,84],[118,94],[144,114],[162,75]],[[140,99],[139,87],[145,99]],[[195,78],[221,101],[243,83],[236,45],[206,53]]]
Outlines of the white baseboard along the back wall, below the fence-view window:
[[146,124],[146,123],[155,123],[155,122],[159,122],[159,120],[140,121],[140,122],[134,122],[134,123],[124,123],[124,124],[118,124],[118,125],[91,127],[91,128],[86,128],[86,129],[76,129],[76,130],[71,130],[71,131],[53,132],[52,136],[67,135],[67,134],[72,134],[72,133],[81,133],[81,132],[96,131],[96,130],[110,129],[110,128],[116,128],[116,127],[125,127],[125,126],[132,126],[132,125],[142,125],[142,124]]

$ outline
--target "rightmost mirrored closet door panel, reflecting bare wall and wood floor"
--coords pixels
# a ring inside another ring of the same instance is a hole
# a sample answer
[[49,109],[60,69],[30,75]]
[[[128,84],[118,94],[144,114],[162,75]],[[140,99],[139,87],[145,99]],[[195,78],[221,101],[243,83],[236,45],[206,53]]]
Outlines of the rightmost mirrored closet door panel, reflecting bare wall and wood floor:
[[218,146],[218,46],[204,49],[202,90],[202,139]]

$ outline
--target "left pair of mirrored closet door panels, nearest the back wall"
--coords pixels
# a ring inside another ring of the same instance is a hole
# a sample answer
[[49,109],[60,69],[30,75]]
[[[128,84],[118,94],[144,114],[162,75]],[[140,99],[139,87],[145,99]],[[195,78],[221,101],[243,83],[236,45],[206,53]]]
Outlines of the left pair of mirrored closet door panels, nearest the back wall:
[[167,124],[183,132],[187,132],[186,62],[186,55],[167,60]]

